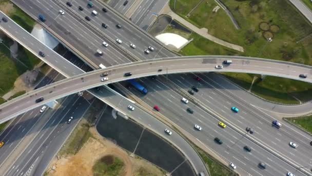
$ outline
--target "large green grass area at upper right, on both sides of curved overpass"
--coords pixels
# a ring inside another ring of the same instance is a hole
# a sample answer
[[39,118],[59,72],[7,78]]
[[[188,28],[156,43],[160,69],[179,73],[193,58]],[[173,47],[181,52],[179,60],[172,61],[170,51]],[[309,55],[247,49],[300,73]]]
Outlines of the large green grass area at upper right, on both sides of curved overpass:
[[[185,16],[198,1],[177,0],[175,9],[173,9],[173,2],[173,0],[170,1],[171,9],[184,19],[200,28],[207,28],[213,36],[241,45],[245,49],[244,53],[231,50],[192,33],[190,38],[194,40],[180,51],[182,55],[251,56],[312,65],[312,59],[310,59],[312,58],[312,39],[296,43],[312,33],[312,27],[286,0],[258,1],[258,4],[250,4],[250,1],[223,0],[222,2],[238,21],[240,30],[233,26],[222,9],[212,12],[217,6],[214,1],[203,1],[188,18]],[[270,35],[273,36],[273,41],[264,48],[266,40],[263,36]],[[225,73],[225,75],[247,90],[253,80],[252,74]],[[271,101],[293,104],[299,103],[296,98],[301,102],[311,100],[312,94],[307,94],[311,89],[312,84],[309,83],[266,77],[263,81],[256,80],[251,92]]]

